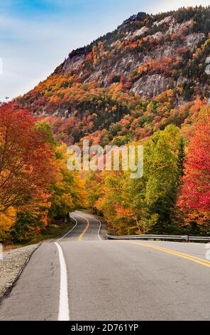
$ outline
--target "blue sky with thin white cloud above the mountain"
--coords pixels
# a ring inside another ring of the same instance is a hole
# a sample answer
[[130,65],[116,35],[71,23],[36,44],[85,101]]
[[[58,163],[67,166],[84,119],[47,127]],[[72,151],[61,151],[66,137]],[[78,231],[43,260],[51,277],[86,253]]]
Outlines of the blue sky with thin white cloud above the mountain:
[[157,13],[210,0],[4,0],[0,2],[0,100],[26,93],[68,53],[138,11]]

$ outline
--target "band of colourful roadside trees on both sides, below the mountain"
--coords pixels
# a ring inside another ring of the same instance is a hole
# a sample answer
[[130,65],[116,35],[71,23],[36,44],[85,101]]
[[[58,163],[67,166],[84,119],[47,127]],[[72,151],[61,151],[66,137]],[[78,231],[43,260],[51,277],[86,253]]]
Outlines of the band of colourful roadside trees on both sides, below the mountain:
[[190,138],[173,124],[146,138],[143,177],[133,180],[122,170],[70,172],[48,123],[1,105],[1,241],[37,237],[81,207],[115,234],[209,234],[210,108],[194,113]]

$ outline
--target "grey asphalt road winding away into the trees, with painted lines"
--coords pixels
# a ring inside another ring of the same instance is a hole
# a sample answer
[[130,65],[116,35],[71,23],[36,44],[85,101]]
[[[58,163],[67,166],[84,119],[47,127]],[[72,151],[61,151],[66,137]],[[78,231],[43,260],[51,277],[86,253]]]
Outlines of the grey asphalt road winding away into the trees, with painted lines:
[[205,244],[109,241],[74,212],[74,229],[32,255],[0,320],[209,320]]

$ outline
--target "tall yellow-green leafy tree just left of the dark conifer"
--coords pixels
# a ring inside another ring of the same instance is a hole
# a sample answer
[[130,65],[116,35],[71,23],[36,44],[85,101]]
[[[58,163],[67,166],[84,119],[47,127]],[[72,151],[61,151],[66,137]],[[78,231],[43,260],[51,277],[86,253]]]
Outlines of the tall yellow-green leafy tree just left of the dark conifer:
[[179,141],[179,129],[175,125],[168,125],[165,130],[155,133],[145,148],[147,227],[153,233],[173,231]]

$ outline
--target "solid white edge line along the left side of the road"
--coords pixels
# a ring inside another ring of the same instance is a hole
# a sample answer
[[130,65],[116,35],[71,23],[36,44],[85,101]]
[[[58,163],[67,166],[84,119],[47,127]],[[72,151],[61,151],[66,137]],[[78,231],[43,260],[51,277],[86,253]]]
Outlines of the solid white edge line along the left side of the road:
[[[74,217],[72,217],[72,219],[74,219]],[[76,227],[78,222],[76,219],[74,219],[74,221],[76,222],[76,225],[74,225],[74,227]],[[72,232],[74,227],[69,232],[67,232],[67,234],[70,234],[70,232]],[[70,321],[68,284],[67,284],[67,265],[65,262],[64,254],[62,252],[62,247],[58,243],[61,239],[66,237],[67,234],[65,234],[63,237],[57,239],[57,241],[54,242],[58,250],[58,256],[60,261],[60,297],[59,297],[59,312],[57,316],[57,321]]]

